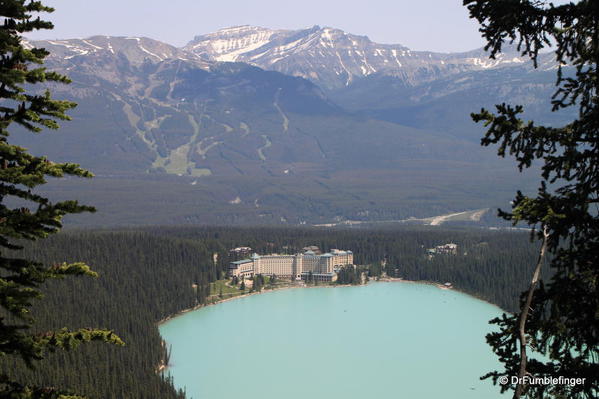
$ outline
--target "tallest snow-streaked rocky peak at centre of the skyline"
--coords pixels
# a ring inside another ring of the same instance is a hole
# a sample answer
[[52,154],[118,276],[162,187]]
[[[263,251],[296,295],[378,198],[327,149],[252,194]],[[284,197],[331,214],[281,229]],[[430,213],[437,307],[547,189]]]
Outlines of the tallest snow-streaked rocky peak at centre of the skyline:
[[325,87],[346,86],[381,71],[397,73],[404,65],[400,59],[412,56],[401,45],[377,44],[366,36],[318,25],[300,30],[226,28],[197,36],[185,49],[205,60],[247,62]]

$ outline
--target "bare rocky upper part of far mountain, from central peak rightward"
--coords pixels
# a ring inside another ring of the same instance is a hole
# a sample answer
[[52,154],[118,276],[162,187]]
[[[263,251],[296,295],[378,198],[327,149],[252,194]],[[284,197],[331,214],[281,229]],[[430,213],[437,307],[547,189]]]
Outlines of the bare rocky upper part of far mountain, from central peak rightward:
[[414,85],[465,71],[525,62],[514,52],[489,60],[482,50],[453,54],[411,51],[402,45],[379,44],[366,36],[319,26],[297,31],[226,28],[196,36],[184,49],[205,60],[246,62],[301,76],[325,89],[349,86],[373,74],[395,76]]

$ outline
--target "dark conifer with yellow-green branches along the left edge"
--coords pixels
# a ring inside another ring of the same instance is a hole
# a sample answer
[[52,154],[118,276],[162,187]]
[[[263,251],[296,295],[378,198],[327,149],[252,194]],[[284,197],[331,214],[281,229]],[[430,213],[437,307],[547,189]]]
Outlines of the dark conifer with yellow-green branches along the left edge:
[[[35,332],[30,308],[42,297],[40,288],[49,279],[69,275],[95,277],[84,263],[43,265],[19,257],[27,241],[45,238],[59,231],[66,214],[94,209],[77,201],[52,202],[33,190],[47,177],[65,175],[92,177],[77,164],[55,163],[34,156],[25,148],[10,144],[9,128],[32,134],[43,128],[57,129],[59,120],[68,120],[66,111],[75,107],[69,101],[55,100],[50,91],[39,90],[47,83],[69,83],[67,77],[43,66],[48,52],[24,43],[22,34],[52,29],[40,13],[52,12],[40,1],[0,1],[0,356],[23,361],[29,367],[46,353],[71,350],[82,342],[106,341],[123,344],[111,331],[85,328]],[[17,203],[17,206],[10,206]],[[60,398],[67,395],[56,387],[28,386],[0,375],[2,398]],[[69,398],[78,398],[71,395]]]

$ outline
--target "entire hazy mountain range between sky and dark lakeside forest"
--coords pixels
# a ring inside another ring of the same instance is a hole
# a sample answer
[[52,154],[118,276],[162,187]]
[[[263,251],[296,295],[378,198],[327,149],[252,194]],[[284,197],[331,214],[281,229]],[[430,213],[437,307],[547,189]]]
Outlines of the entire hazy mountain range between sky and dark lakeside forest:
[[[99,175],[96,186],[50,189],[110,210],[90,223],[300,224],[484,208],[518,184],[509,162],[475,142],[481,129],[468,114],[515,98],[534,117],[568,119],[548,112],[548,56],[533,70],[516,54],[412,52],[318,26],[228,28],[183,48],[107,36],[30,45],[71,77],[52,90],[79,107],[58,132],[17,140]],[[157,217],[169,195],[189,203]]]

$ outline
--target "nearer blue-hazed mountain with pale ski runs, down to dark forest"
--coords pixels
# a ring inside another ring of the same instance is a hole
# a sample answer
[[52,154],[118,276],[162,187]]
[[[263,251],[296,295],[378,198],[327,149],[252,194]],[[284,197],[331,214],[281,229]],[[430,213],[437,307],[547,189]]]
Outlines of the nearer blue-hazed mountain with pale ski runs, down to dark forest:
[[302,77],[146,38],[34,44],[73,79],[52,86],[55,97],[79,107],[56,132],[13,134],[34,153],[98,175],[46,188],[98,206],[79,223],[397,220],[486,208],[517,185],[511,163],[492,151],[348,112]]

